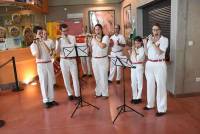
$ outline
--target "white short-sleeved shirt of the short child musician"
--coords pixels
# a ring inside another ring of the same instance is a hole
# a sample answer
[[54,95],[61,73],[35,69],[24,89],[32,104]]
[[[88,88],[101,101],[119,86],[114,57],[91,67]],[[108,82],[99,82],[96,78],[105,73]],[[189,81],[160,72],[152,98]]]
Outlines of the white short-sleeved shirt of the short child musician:
[[[144,47],[135,48],[136,56],[131,55],[131,61],[132,63],[138,63],[138,62],[144,62],[145,60],[145,53],[144,53]],[[143,66],[143,64],[134,64],[137,67]]]

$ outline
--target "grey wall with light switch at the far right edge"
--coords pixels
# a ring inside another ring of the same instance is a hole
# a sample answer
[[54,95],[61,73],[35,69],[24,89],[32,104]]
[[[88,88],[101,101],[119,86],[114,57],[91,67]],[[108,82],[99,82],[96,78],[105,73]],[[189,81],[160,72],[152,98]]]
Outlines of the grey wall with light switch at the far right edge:
[[[200,82],[196,82],[196,77],[200,78],[200,1],[187,0],[186,10],[187,27],[185,40],[185,78],[184,93],[200,92]],[[189,41],[194,45],[189,46]]]

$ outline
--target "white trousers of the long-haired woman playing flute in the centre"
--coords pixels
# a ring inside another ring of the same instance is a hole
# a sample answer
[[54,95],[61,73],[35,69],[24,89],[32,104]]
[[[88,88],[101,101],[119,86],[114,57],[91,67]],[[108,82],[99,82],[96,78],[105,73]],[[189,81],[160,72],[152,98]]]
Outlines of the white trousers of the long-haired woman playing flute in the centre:
[[96,96],[108,96],[108,57],[92,58],[92,69],[96,80]]

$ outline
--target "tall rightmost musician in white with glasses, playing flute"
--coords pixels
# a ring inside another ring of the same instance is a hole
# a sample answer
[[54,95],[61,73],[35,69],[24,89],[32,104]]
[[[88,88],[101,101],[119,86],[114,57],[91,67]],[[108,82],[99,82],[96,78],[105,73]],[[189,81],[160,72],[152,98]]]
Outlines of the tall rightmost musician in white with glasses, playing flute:
[[[159,24],[152,27],[153,35],[149,36],[148,42],[145,40],[145,51],[148,56],[146,62],[146,79],[147,79],[147,105],[145,110],[150,110],[155,106],[155,88],[157,87],[156,116],[162,116],[167,112],[167,66],[165,63],[165,52],[168,47],[168,39],[161,35]],[[156,85],[155,85],[156,84]]]

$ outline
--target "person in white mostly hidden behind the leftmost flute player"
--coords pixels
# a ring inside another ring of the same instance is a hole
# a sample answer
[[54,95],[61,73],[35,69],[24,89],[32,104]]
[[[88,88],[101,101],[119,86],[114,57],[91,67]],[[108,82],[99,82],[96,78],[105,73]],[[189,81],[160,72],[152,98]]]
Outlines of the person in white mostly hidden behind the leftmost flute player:
[[[50,54],[51,54],[51,61],[54,61],[54,51],[55,51],[55,43],[52,39],[48,38],[48,33],[46,29],[43,29],[43,40],[45,42],[45,44],[47,45],[47,47],[50,49]],[[52,79],[53,79],[53,85],[56,84],[56,77],[55,77],[55,73],[54,73],[54,68],[53,70],[51,70],[51,74],[52,74]]]

